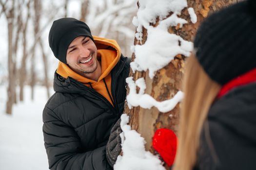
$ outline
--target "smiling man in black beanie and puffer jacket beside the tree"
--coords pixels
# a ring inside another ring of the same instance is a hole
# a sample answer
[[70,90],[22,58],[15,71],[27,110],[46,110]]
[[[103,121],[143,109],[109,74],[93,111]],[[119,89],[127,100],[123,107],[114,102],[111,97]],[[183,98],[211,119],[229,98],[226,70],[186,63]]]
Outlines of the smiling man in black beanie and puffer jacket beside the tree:
[[111,170],[121,150],[117,120],[124,109],[128,58],[115,40],[92,36],[74,18],[53,22],[49,45],[60,61],[55,94],[43,110],[49,169]]

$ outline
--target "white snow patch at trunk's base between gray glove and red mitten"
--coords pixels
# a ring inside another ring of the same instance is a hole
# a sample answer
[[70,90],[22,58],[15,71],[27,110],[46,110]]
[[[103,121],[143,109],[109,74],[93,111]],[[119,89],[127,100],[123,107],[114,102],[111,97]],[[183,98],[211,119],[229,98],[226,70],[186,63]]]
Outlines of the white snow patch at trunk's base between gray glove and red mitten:
[[145,151],[145,140],[131,126],[127,125],[129,117],[126,114],[121,115],[123,155],[119,155],[114,170],[165,170],[158,156],[149,151]]

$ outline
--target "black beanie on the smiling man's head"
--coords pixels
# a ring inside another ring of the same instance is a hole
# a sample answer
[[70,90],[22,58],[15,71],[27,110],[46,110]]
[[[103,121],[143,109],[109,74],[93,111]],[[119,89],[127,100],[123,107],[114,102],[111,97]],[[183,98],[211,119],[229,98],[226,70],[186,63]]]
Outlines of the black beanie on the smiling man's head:
[[49,32],[49,45],[55,57],[67,64],[68,46],[81,35],[89,36],[94,41],[90,28],[84,22],[71,17],[55,20]]

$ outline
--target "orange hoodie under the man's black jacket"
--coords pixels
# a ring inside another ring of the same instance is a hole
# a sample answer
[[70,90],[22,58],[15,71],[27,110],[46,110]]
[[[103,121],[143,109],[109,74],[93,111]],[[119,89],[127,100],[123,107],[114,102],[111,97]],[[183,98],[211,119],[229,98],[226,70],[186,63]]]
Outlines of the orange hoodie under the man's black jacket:
[[88,87],[90,87],[88,83],[91,83],[93,89],[104,96],[113,105],[113,102],[111,101],[106,86],[103,82],[103,78],[106,81],[107,88],[112,97],[110,72],[118,63],[121,56],[121,50],[116,40],[101,38],[98,36],[93,36],[93,38],[98,49],[97,59],[101,60],[101,76],[99,77],[98,81],[94,81],[79,75],[62,62],[59,62],[57,73],[64,78],[72,77]]

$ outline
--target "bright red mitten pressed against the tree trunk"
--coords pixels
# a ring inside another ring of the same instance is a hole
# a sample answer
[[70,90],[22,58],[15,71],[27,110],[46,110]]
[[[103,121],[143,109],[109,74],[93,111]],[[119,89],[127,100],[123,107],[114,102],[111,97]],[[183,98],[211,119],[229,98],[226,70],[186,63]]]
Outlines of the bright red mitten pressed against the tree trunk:
[[173,165],[177,150],[177,136],[172,130],[158,129],[153,137],[152,146],[169,167]]

